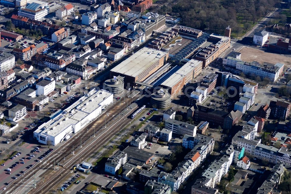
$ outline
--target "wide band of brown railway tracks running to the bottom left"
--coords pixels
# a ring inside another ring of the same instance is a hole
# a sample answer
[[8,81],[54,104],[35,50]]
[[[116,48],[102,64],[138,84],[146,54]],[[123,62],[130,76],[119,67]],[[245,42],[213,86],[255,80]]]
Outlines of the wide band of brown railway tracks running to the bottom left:
[[[131,94],[132,91],[129,93]],[[128,94],[128,95],[129,95]],[[126,98],[124,103],[116,102],[113,104],[107,114],[102,114],[100,118],[95,119],[82,131],[77,133],[73,140],[68,141],[63,146],[54,149],[47,157],[45,157],[41,163],[37,163],[32,170],[23,174],[18,180],[13,182],[11,186],[7,186],[5,193],[26,193],[26,190],[31,190],[30,193],[45,193],[52,189],[52,186],[57,186],[59,181],[71,171],[73,164],[79,163],[81,158],[87,158],[93,154],[99,147],[110,140],[119,130],[128,124],[130,121],[127,118],[133,110],[130,110],[124,115],[118,115],[125,110],[127,104],[136,100],[138,96],[134,98]],[[120,104],[120,105],[119,105]],[[104,122],[106,120],[106,122]],[[118,122],[116,120],[119,120]],[[87,130],[86,130],[87,128]],[[98,137],[93,137],[98,133]],[[80,146],[82,145],[82,149]],[[75,152],[73,155],[72,152]],[[54,170],[54,166],[61,163],[59,170]],[[78,161],[78,162],[76,162]],[[47,173],[50,174],[47,175]],[[52,174],[54,172],[54,174]],[[34,184],[31,182],[34,180],[34,176],[46,177],[44,182],[38,182],[37,188],[33,188]]]

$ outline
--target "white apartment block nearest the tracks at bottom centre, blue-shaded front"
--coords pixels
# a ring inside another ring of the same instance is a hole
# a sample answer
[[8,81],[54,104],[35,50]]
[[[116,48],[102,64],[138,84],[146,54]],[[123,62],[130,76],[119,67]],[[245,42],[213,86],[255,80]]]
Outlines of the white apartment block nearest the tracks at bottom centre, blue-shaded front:
[[115,175],[116,171],[127,163],[127,154],[123,151],[118,151],[105,163],[105,172]]

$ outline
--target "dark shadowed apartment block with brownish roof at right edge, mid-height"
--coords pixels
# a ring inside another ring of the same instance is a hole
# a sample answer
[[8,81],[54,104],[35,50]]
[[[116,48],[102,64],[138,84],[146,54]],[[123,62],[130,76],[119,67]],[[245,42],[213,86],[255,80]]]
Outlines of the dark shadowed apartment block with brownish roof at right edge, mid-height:
[[291,105],[286,101],[277,100],[276,102],[271,100],[269,107],[271,108],[270,115],[273,118],[285,120],[290,115]]

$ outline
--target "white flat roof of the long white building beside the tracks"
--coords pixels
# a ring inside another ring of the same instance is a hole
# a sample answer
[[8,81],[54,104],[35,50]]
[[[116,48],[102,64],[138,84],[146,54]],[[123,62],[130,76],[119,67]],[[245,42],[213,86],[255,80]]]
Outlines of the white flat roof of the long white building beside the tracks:
[[105,90],[91,90],[86,94],[86,96],[81,97],[78,101],[65,109],[62,114],[41,125],[34,132],[41,133],[41,135],[44,136],[50,135],[56,137],[64,130],[77,124],[79,121],[87,117],[88,114],[95,111],[100,107],[100,103],[111,95],[111,93]]

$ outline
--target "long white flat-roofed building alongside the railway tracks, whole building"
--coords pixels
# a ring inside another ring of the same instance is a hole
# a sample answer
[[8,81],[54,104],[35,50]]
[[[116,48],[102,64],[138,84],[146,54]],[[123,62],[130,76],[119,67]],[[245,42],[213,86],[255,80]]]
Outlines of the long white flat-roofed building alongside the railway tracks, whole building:
[[56,145],[70,133],[77,133],[113,102],[113,94],[93,89],[58,116],[42,124],[33,132],[33,138],[45,145]]

